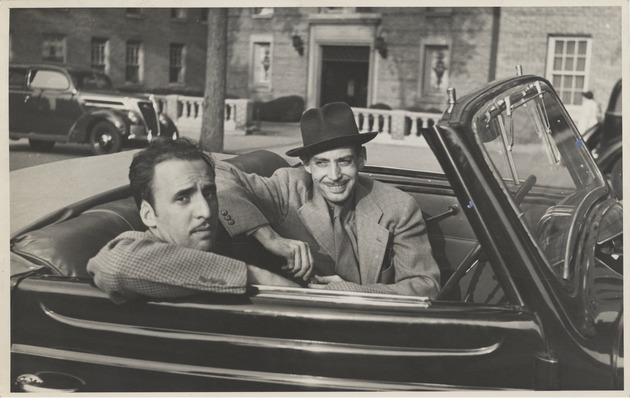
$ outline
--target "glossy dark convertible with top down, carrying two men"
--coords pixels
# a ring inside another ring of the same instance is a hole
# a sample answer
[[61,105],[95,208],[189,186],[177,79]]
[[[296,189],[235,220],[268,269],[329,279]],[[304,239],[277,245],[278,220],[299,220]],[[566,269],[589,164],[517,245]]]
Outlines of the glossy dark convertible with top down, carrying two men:
[[[85,266],[143,229],[133,151],[72,160],[67,186],[36,197],[29,169],[12,173],[13,391],[622,390],[622,205],[550,83],[449,89],[426,140],[443,173],[363,173],[421,204],[436,299],[255,285],[115,305]],[[300,167],[216,156],[261,175]],[[277,269],[248,237],[222,244]]]

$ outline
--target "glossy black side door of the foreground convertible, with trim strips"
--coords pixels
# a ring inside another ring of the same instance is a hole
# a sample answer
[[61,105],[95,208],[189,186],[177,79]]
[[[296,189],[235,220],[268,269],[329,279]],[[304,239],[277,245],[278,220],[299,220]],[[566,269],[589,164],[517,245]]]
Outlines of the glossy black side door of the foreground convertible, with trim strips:
[[79,391],[534,388],[544,350],[518,307],[420,297],[262,286],[115,305],[37,276],[12,308],[12,380]]

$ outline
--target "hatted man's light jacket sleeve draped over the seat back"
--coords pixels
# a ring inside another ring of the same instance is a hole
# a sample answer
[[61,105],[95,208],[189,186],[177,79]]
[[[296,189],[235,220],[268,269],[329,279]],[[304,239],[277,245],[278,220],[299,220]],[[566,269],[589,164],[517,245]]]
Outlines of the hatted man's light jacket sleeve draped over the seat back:
[[262,177],[217,161],[215,170],[219,208],[224,218],[221,222],[231,236],[282,222],[288,211],[291,186],[295,185],[290,169],[281,168],[271,177]]

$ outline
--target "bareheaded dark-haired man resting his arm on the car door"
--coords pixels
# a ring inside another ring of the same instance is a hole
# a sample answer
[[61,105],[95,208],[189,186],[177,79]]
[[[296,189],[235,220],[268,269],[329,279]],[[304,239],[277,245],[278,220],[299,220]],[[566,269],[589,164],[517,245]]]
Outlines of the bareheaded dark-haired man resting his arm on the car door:
[[145,232],[127,231],[88,262],[95,284],[116,303],[138,296],[244,293],[247,283],[298,286],[216,253],[214,162],[187,139],[157,139],[129,168]]

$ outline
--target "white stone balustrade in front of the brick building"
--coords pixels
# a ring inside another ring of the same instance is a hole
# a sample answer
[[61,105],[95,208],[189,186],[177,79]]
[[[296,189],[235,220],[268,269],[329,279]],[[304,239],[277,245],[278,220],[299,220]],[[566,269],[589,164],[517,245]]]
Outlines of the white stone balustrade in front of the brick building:
[[[160,112],[177,125],[182,136],[199,139],[203,97],[154,95]],[[441,113],[352,108],[359,131],[378,131],[376,142],[426,145],[422,132],[433,127]],[[248,99],[225,100],[225,134],[245,135],[255,124],[253,102]]]

